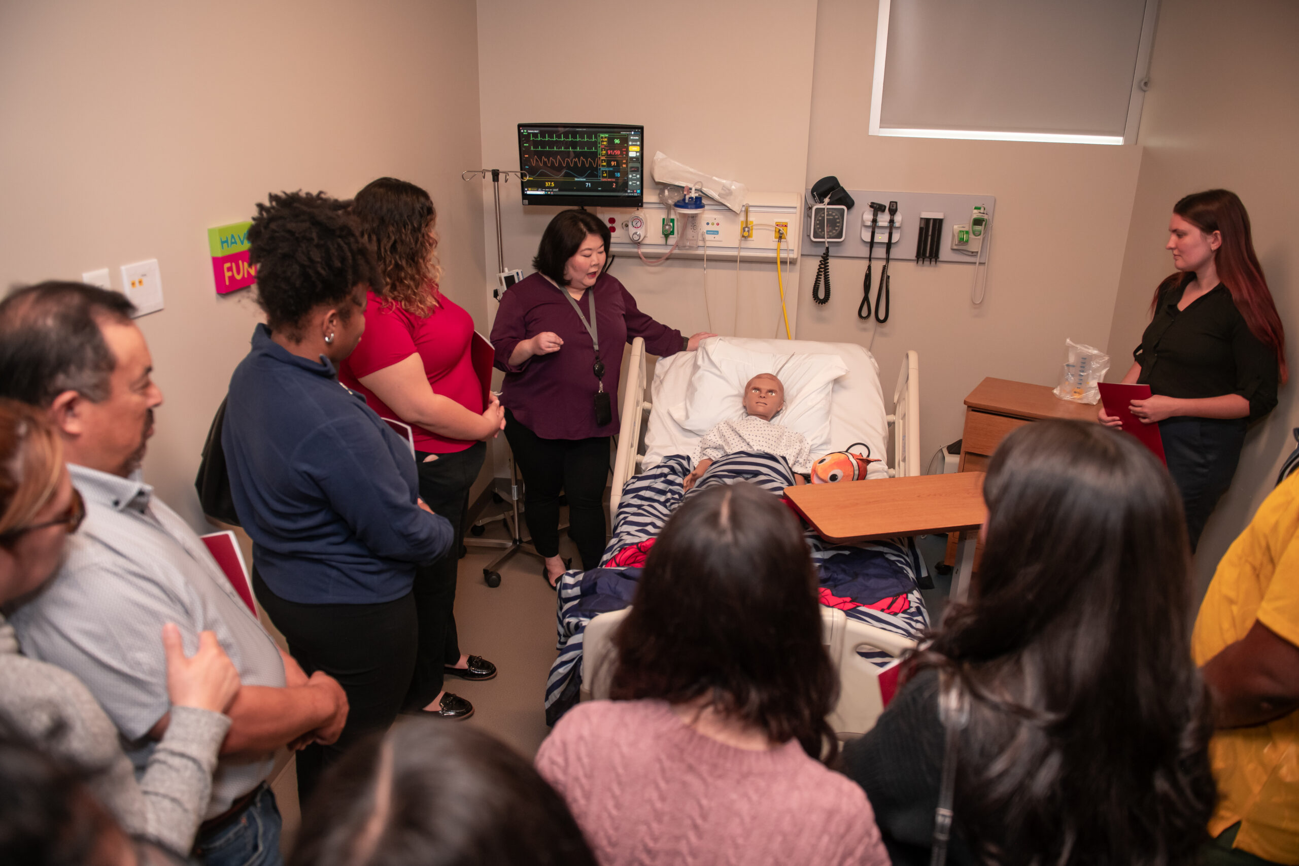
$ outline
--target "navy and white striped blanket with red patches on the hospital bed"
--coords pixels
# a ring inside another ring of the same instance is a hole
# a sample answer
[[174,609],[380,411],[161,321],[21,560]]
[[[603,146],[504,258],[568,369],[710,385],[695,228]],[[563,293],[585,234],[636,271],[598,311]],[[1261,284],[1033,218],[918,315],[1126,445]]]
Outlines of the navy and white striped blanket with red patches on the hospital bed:
[[[690,474],[690,458],[672,456],[653,469],[633,476],[624,487],[613,538],[604,551],[601,567],[590,571],[572,570],[560,578],[557,632],[560,650],[546,682],[546,722],[553,724],[578,700],[582,684],[582,634],[592,617],[621,610],[631,604],[639,567],[605,567],[626,547],[659,535],[681,502],[718,484],[750,482],[776,496],[794,484],[794,473],[782,457],[765,453],[738,452],[717,460],[699,483],[682,492]],[[869,482],[864,482],[869,483]],[[909,538],[829,544],[816,532],[805,532],[812,558],[821,580],[821,599],[865,623],[908,637],[918,637],[929,628],[929,613],[918,583],[926,576],[924,560]],[[882,599],[895,599],[886,613],[864,605]],[[883,652],[863,652],[866,660],[881,665],[891,661]]]

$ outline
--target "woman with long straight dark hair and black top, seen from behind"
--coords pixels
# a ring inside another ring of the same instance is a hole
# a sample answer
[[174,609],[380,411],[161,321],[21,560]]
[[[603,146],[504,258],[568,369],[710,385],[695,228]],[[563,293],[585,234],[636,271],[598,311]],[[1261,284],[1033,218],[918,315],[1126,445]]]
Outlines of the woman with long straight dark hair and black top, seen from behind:
[[1177,489],[1134,438],[1044,421],[983,484],[983,563],[844,771],[895,865],[930,862],[940,683],[968,708],[951,863],[1177,866],[1207,840],[1208,699]]

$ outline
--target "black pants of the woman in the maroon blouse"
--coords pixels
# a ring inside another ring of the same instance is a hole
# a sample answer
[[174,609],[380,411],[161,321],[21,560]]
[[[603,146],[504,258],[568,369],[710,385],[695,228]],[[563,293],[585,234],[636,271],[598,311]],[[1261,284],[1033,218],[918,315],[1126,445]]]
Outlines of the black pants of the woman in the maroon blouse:
[[569,538],[594,569],[604,554],[604,482],[609,478],[609,438],[542,439],[505,410],[505,439],[523,475],[527,531],[542,556],[560,552],[560,491],[568,495]]

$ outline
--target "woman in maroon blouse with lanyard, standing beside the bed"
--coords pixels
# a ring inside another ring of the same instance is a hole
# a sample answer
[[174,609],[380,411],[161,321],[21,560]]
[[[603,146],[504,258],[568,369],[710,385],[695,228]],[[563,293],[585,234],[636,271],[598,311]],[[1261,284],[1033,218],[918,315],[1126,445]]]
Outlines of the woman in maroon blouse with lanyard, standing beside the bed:
[[662,357],[713,336],[687,339],[637,309],[631,292],[604,273],[608,253],[609,229],[595,214],[556,214],[533,260],[536,273],[505,291],[491,330],[496,366],[505,371],[505,438],[551,586],[566,567],[559,556],[561,489],[582,567],[596,567],[604,553],[601,497],[609,436],[618,430],[622,347],[640,336]]

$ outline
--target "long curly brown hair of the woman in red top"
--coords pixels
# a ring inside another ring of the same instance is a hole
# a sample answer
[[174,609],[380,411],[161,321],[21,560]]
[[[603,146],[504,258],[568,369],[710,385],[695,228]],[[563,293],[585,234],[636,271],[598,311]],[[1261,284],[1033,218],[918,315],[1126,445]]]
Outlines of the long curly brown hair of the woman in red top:
[[413,183],[379,178],[356,193],[352,213],[383,271],[383,300],[412,315],[429,315],[442,280],[433,199]]

